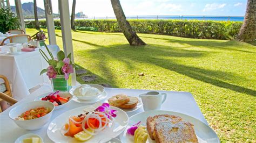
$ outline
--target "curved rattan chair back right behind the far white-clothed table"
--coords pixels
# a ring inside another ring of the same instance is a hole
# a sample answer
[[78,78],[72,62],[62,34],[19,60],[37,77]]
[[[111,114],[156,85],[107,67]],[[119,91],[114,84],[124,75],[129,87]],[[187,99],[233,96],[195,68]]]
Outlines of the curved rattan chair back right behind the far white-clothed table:
[[4,42],[6,40],[10,40],[11,42],[15,42],[15,43],[24,43],[24,42],[29,42],[31,40],[30,35],[26,35],[26,34],[20,34],[20,35],[12,35],[10,37],[6,37],[3,41],[1,45],[4,45]]

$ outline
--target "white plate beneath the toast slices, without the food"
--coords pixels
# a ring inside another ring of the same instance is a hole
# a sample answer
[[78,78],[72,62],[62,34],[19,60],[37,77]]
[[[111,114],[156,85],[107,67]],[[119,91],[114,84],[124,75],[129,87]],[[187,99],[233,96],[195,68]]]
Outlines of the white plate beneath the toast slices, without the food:
[[[138,123],[138,121],[142,121],[142,125],[146,126],[146,119],[147,117],[155,116],[155,115],[161,115],[161,114],[169,114],[169,115],[177,115],[185,121],[189,121],[194,125],[194,130],[196,131],[197,139],[199,142],[220,142],[217,134],[212,130],[211,127],[204,124],[200,120],[185,115],[183,113],[178,112],[172,112],[172,111],[161,111],[161,110],[152,110],[152,111],[146,111],[142,113],[138,113],[136,115],[133,115],[129,118],[129,125],[126,127],[123,135],[120,137],[122,142],[133,142],[134,137],[132,135],[127,134],[127,129],[132,126],[135,123]],[[155,142],[151,140],[149,137],[147,139],[147,142]]]

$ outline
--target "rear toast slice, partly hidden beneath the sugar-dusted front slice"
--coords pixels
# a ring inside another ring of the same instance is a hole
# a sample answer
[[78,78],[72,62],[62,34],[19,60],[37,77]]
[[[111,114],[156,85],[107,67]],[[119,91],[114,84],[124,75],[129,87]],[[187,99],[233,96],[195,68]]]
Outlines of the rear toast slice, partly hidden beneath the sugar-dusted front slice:
[[182,118],[179,116],[174,115],[156,115],[154,117],[148,117],[147,118],[147,132],[149,132],[150,138],[154,140],[153,132],[154,132],[154,126],[156,123],[160,123],[163,121],[170,121],[172,123],[176,123],[178,121],[181,121]]

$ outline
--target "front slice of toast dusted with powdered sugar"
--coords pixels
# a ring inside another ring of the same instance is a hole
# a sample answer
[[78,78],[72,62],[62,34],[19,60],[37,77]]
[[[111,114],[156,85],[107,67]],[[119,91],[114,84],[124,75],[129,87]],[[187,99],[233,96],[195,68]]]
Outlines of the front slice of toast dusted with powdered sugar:
[[156,123],[153,132],[156,142],[198,142],[194,126],[188,121]]

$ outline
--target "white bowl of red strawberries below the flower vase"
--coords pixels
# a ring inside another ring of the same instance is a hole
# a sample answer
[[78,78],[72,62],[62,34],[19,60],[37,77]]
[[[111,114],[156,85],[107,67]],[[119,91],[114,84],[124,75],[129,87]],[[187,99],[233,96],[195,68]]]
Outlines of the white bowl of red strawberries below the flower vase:
[[43,95],[39,95],[34,101],[49,101],[55,105],[55,110],[63,108],[70,103],[73,96],[69,92],[48,92]]

